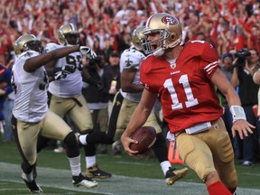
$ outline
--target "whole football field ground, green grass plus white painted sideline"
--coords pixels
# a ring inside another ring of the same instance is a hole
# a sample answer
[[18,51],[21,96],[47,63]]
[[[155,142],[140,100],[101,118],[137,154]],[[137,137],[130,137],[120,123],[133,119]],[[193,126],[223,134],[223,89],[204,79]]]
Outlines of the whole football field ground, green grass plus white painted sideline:
[[[16,145],[0,144],[0,153],[0,194],[29,194],[21,178],[21,157]],[[81,159],[82,171],[85,171],[83,153]],[[167,186],[156,159],[136,159],[125,153],[120,156],[98,154],[97,159],[99,167],[113,176],[111,179],[97,180],[99,185],[95,189],[74,188],[66,155],[48,150],[39,154],[37,181],[44,194],[208,194],[192,170],[181,181]],[[260,194],[260,164],[244,167],[236,163],[237,195]],[[183,167],[181,164],[172,166]]]

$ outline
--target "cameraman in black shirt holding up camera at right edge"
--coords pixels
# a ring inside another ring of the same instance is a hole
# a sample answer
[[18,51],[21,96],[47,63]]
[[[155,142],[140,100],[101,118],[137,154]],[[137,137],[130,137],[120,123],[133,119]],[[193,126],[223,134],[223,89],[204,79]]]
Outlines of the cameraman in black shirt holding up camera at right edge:
[[[235,56],[235,69],[233,71],[231,82],[234,88],[239,88],[238,95],[241,99],[241,105],[246,113],[246,120],[250,124],[255,125],[258,129],[260,127],[260,122],[254,114],[253,107],[257,104],[257,92],[259,87],[253,80],[253,70],[259,55],[258,52],[252,48],[246,51],[238,51],[235,53]],[[255,162],[256,132],[257,130],[254,131],[254,134],[246,136],[243,140],[243,165],[245,166],[251,166]]]

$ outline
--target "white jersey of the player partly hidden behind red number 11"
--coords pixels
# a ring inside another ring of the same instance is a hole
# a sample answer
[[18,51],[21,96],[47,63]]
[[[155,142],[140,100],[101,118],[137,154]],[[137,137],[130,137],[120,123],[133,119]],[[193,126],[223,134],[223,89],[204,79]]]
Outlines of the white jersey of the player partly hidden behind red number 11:
[[[142,60],[144,60],[144,53],[135,49],[134,46],[125,50],[120,57],[120,72],[122,73],[125,69],[135,69],[135,79],[133,80],[133,84],[141,85],[140,83],[140,72],[139,67],[141,65]],[[128,93],[123,92],[120,89],[120,93],[122,96],[130,101],[139,102],[142,97],[142,92],[140,93]]]

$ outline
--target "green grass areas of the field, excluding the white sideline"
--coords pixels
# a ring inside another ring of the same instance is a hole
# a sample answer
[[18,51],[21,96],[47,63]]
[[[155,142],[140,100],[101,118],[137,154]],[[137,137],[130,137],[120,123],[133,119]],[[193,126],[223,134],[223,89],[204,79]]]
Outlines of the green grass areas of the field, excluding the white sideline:
[[[0,144],[0,162],[20,164],[21,157],[16,149],[14,143],[11,144]],[[81,165],[82,171],[85,170],[85,161],[83,158],[83,150],[81,154]],[[151,178],[151,179],[163,179],[163,172],[156,159],[136,159],[132,158],[125,153],[120,156],[114,156],[108,154],[97,155],[99,167],[107,172],[111,172],[116,175],[128,176],[128,177],[140,177],[140,178]],[[64,153],[53,153],[49,150],[43,150],[39,154],[38,163],[39,167],[51,167],[54,169],[62,169],[70,171],[69,162]],[[172,165],[176,168],[182,168],[181,164]],[[238,186],[239,188],[248,189],[260,189],[260,164],[255,163],[254,166],[245,167],[240,165],[240,162],[236,161],[237,175],[238,175]],[[195,172],[189,170],[187,176],[181,181],[191,181],[201,183]],[[100,181],[102,182],[102,181]],[[11,186],[11,187],[10,187]],[[26,194],[28,190],[24,188],[23,182],[13,183],[10,181],[0,182],[0,194],[2,190],[5,190],[3,194]],[[14,189],[14,191],[12,190]],[[4,191],[3,190],[3,191]],[[55,194],[75,194],[73,190],[60,190],[53,188],[44,188],[44,191],[55,191]],[[6,192],[7,191],[7,192]],[[9,193],[10,192],[10,193]],[[49,194],[49,193],[48,193]],[[77,191],[77,194],[83,194],[83,192]],[[86,193],[84,193],[86,194]],[[92,194],[92,193],[88,193]],[[97,194],[97,193],[95,193]]]

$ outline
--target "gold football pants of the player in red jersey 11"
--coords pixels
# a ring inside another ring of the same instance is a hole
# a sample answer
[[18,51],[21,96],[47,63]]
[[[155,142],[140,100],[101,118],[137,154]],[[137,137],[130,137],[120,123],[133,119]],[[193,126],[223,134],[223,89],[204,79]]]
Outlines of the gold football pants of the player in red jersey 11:
[[209,172],[218,172],[228,189],[237,187],[237,172],[230,138],[222,119],[211,123],[211,128],[195,135],[175,134],[181,159],[194,170],[202,181]]

